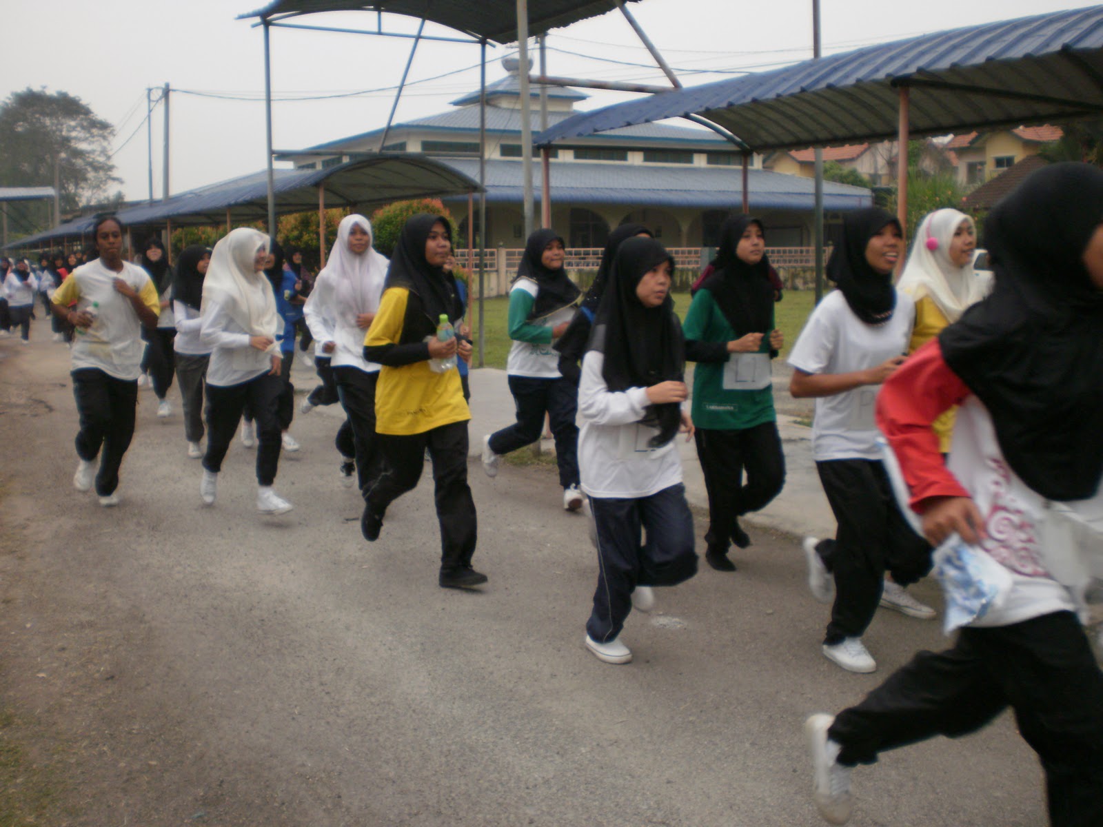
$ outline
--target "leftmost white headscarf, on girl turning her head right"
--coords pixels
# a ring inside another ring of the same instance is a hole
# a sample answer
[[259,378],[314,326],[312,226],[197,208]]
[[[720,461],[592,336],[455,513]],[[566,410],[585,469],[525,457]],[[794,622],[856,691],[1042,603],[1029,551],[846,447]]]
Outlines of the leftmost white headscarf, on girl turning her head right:
[[[251,227],[234,229],[214,246],[203,280],[202,313],[213,301],[226,309],[250,336],[276,337],[276,296],[264,270],[255,270],[258,250],[268,251],[268,236]],[[269,351],[275,351],[274,343]]]

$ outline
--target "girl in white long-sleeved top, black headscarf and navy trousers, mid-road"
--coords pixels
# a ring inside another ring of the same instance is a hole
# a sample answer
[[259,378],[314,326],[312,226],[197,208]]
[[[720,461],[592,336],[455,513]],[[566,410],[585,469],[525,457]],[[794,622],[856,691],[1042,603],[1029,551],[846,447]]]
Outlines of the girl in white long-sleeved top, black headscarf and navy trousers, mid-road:
[[[682,411],[685,342],[670,296],[674,259],[652,238],[621,244],[582,359],[579,464],[597,529],[598,587],[586,647],[625,664],[620,640],[632,606],[651,611],[653,586],[697,571],[693,515],[673,444]],[[641,545],[641,528],[646,541]]]

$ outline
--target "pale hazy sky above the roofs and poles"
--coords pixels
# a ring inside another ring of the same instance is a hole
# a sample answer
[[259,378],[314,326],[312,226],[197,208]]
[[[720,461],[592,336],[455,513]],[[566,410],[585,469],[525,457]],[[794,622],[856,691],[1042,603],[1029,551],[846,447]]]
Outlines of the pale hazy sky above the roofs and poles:
[[[146,89],[164,83],[174,89],[170,96],[170,192],[257,171],[265,165],[264,40],[250,21],[235,18],[265,4],[267,0],[0,0],[4,55],[0,98],[29,86],[64,89],[81,97],[116,127],[113,160],[128,198],[148,196]],[[1062,0],[822,0],[824,54],[1085,6]],[[629,8],[667,63],[682,69],[677,74],[687,86],[732,75],[686,69],[761,71],[812,56],[812,0],[642,0]],[[301,21],[368,29],[375,24],[375,14],[326,13]],[[417,21],[404,18],[385,21],[385,28],[394,31],[413,32],[417,26]],[[426,28],[427,33],[430,30]],[[437,33],[451,32],[438,29]],[[275,97],[368,92],[330,100],[277,100],[275,148],[301,149],[382,127],[394,92],[370,90],[397,85],[411,42],[272,30]],[[514,49],[488,49],[488,83],[504,75],[497,61]],[[592,55],[644,65],[619,65]],[[476,45],[424,42],[410,82],[464,71],[408,86],[396,122],[446,110],[450,100],[478,89],[478,63]],[[548,35],[553,75],[663,84],[653,66],[617,11]],[[589,94],[591,98],[579,108],[633,97]],[[154,109],[152,120],[153,194],[160,197],[161,107]]]

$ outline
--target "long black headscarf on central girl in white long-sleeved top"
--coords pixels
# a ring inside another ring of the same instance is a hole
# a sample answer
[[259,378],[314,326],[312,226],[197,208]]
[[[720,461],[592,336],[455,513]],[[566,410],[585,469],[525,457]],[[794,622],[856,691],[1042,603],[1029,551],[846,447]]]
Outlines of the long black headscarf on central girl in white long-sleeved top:
[[[604,354],[601,375],[610,390],[650,387],[685,378],[685,340],[667,293],[657,308],[645,308],[635,294],[644,275],[674,258],[654,238],[629,238],[617,250],[608,287],[593,319],[588,350]],[[641,421],[657,426],[652,448],[674,439],[682,421],[677,402],[647,406]]]

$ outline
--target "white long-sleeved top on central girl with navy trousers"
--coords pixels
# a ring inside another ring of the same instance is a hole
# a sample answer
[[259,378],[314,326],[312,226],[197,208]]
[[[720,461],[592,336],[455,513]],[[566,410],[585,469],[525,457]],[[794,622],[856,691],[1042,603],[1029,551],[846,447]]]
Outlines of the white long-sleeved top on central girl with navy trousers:
[[682,459],[671,440],[650,448],[657,428],[641,425],[646,388],[609,390],[601,368],[606,357],[590,351],[582,358],[578,386],[578,471],[582,491],[592,497],[634,498],[657,494],[682,482]]

